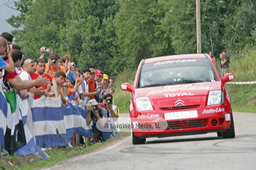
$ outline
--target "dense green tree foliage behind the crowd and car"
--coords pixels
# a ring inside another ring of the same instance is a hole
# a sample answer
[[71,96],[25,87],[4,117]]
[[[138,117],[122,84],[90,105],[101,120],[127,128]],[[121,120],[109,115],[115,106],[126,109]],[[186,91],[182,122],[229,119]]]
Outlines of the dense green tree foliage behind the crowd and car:
[[[232,55],[255,45],[251,0],[201,1],[202,51]],[[195,0],[20,0],[8,22],[26,57],[40,47],[71,55],[80,69],[117,74],[140,60],[196,53]]]

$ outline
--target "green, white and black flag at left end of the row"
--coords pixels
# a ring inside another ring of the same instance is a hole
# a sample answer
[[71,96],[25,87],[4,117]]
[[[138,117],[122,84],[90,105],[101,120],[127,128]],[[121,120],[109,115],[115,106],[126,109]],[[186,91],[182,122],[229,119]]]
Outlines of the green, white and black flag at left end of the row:
[[21,120],[21,113],[18,106],[16,91],[4,91],[6,101],[11,109],[7,111],[7,129],[4,136],[4,149],[9,154],[26,145],[26,137]]

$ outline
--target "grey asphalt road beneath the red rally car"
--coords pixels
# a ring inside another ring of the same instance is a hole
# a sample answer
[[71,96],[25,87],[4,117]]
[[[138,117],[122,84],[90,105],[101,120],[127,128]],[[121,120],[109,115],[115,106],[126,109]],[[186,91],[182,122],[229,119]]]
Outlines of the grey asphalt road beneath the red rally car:
[[256,169],[256,113],[234,113],[234,122],[234,139],[208,133],[132,145],[124,137],[48,169]]

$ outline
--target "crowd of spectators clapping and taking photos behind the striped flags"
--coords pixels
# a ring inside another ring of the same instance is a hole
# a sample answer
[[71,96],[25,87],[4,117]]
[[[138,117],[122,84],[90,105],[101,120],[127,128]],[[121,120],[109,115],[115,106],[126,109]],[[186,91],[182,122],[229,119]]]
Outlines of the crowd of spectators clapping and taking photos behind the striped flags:
[[0,83],[4,91],[15,90],[18,101],[31,95],[35,100],[60,97],[65,106],[72,102],[85,108],[92,139],[83,138],[92,144],[117,137],[116,130],[102,132],[96,126],[98,121],[102,124],[109,119],[116,123],[119,118],[112,97],[114,79],[100,69],[78,69],[70,55],[60,57],[51,48],[41,47],[41,56],[36,60],[26,58],[26,52],[13,43],[13,38],[11,33],[0,35]]

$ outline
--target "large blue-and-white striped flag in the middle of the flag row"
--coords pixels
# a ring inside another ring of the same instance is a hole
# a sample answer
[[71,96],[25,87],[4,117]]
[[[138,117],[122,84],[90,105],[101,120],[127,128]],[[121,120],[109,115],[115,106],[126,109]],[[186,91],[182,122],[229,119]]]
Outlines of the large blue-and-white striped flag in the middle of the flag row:
[[33,101],[33,130],[39,147],[68,146],[67,132],[59,98],[41,97]]

